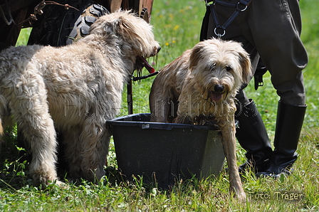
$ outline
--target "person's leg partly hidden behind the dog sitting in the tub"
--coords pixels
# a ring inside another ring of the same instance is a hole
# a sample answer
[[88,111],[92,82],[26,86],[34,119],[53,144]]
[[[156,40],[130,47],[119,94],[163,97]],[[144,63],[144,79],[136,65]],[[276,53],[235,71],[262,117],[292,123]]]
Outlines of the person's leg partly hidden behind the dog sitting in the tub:
[[[219,14],[219,21],[222,24],[231,16],[234,9],[216,6],[216,12]],[[249,28],[247,21],[244,21],[246,16],[246,11],[240,14],[238,19],[234,23],[231,23],[229,28],[226,28],[225,36],[221,38],[238,41],[243,44],[245,50],[251,55],[252,70],[254,72],[258,64],[259,55],[256,53],[256,49],[251,42],[246,38],[251,38],[249,30],[246,30],[246,36],[243,35],[242,28]],[[208,7],[202,23],[201,41],[216,37],[214,28],[214,21],[211,18]],[[237,110],[235,114],[235,119],[239,121],[239,129],[236,129],[236,138],[241,147],[246,150],[247,158],[247,161],[239,166],[239,171],[244,172],[250,167],[253,167],[253,171],[265,171],[267,161],[271,157],[272,152],[266,127],[263,124],[256,105],[253,100],[249,100],[246,97],[244,90],[240,90],[236,98],[239,100],[238,104],[236,104]]]

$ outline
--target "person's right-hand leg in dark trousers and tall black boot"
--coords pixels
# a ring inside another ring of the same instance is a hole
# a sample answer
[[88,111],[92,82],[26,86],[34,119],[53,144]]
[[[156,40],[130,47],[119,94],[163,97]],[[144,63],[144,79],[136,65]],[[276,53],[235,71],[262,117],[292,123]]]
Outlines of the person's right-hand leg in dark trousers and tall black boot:
[[[280,97],[271,161],[258,176],[290,174],[305,115],[305,88],[301,70],[308,56],[300,41],[298,0],[253,1],[249,24],[254,46],[271,73],[271,82]],[[262,9],[261,9],[262,8]],[[271,24],[268,24],[271,23]]]

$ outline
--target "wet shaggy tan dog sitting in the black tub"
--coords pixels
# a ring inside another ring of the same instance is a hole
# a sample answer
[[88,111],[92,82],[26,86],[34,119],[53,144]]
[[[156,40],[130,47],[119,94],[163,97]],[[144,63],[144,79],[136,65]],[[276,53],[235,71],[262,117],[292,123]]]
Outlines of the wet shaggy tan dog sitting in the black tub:
[[236,165],[234,98],[251,79],[251,62],[240,43],[210,39],[165,66],[150,92],[151,122],[204,124],[221,130],[231,191],[245,198]]

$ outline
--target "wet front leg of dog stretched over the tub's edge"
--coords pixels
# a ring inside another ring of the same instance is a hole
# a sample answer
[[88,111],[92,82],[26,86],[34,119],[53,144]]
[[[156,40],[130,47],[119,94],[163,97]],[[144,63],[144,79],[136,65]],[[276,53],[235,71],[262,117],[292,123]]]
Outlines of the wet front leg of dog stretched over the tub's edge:
[[232,124],[221,127],[221,134],[223,137],[224,154],[226,156],[227,164],[229,166],[229,183],[230,191],[236,194],[240,201],[246,201],[246,194],[241,184],[238,166],[236,163],[236,137],[235,137],[235,122],[232,117]]

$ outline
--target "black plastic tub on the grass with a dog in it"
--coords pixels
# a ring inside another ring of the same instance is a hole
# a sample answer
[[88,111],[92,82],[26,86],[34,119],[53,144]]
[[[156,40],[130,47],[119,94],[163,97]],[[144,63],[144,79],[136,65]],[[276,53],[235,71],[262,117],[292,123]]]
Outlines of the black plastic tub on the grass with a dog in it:
[[218,176],[224,164],[221,137],[214,127],[150,122],[150,114],[107,121],[113,129],[118,168],[127,180],[143,177],[162,188],[176,180]]

